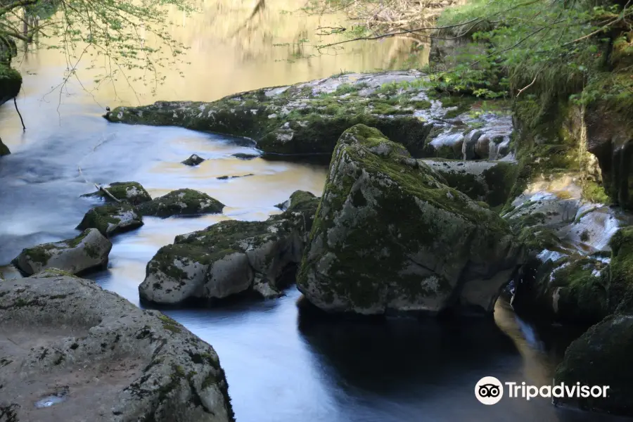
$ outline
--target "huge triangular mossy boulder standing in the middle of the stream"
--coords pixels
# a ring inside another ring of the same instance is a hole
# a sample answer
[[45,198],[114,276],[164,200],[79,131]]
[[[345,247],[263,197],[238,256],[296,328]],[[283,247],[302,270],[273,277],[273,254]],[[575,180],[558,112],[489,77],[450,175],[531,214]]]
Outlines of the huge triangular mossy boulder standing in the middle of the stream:
[[334,151],[297,281],[328,312],[491,312],[521,259],[503,219],[357,125]]

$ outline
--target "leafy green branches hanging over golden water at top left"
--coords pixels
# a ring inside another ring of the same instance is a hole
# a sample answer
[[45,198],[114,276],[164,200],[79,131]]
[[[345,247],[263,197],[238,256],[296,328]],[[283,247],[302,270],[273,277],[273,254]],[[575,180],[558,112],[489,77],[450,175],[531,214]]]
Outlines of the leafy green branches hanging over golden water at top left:
[[[188,0],[0,0],[0,42],[11,39],[58,49],[65,82],[81,60],[101,70],[96,82],[122,77],[158,84],[160,68],[177,64],[185,47],[170,35],[167,7],[194,11]],[[131,70],[143,70],[134,79]]]

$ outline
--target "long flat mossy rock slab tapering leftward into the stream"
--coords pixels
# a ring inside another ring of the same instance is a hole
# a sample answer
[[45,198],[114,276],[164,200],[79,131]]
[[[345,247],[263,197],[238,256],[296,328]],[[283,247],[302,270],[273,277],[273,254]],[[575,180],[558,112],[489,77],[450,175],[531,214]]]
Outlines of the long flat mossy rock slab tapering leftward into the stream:
[[437,144],[433,140],[445,134],[459,137],[475,127],[482,133],[494,133],[494,139],[500,136],[504,145],[509,143],[509,115],[482,112],[474,97],[440,96],[428,89],[427,80],[416,71],[350,73],[242,92],[212,103],[160,101],[118,107],[106,118],[243,136],[254,140],[269,158],[331,155],[339,136],[354,124],[377,127],[415,157],[461,158],[461,145],[453,151],[442,148],[443,141]]

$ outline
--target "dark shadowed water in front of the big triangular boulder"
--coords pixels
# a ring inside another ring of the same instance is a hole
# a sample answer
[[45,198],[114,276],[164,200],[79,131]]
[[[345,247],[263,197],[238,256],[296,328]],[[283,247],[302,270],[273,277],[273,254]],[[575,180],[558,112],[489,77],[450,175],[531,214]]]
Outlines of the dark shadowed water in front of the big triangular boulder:
[[298,328],[313,359],[341,391],[339,405],[354,421],[627,421],[554,407],[549,399],[506,397],[480,404],[477,381],[550,385],[567,345],[582,333],[532,326],[499,302],[494,319],[459,321],[323,318],[300,301]]

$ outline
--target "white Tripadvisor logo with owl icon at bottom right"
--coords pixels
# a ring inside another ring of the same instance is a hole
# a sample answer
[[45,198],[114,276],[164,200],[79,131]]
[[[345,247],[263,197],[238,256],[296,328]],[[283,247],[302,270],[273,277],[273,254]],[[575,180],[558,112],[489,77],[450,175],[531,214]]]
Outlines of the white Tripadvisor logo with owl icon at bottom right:
[[580,383],[572,385],[565,383],[543,385],[539,388],[536,385],[526,385],[525,382],[506,382],[502,384],[501,381],[494,378],[494,376],[485,376],[475,385],[475,397],[477,397],[482,404],[490,405],[499,403],[499,400],[504,397],[504,390],[511,399],[526,399],[530,401],[530,399],[535,397],[606,398],[608,397],[608,389],[608,385],[589,386],[581,385]]

